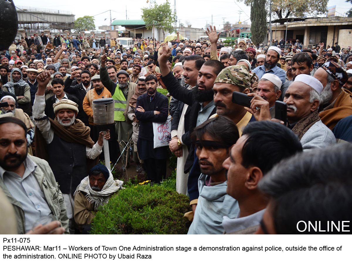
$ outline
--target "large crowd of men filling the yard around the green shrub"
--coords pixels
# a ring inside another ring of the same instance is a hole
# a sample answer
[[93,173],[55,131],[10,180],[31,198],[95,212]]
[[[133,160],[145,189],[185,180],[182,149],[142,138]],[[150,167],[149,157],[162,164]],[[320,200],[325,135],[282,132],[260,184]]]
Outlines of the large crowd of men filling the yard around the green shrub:
[[[152,183],[166,176],[169,147],[192,209],[188,234],[297,234],[298,221],[349,220],[351,47],[224,46],[215,27],[206,33],[133,38],[125,49],[42,32],[0,53],[0,196],[15,232],[89,233],[123,184],[98,164],[104,139],[113,164],[133,161]],[[99,98],[114,100],[106,133],[94,121]],[[153,123],[169,115],[169,145],[155,147]]]

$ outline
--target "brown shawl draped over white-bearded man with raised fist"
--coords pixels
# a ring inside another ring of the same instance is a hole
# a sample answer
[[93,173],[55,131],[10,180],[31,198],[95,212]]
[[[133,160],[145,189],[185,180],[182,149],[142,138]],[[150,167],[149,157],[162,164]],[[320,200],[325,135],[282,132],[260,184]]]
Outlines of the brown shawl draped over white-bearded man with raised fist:
[[[94,146],[94,141],[89,136],[90,128],[86,127],[81,120],[76,119],[72,126],[64,127],[59,124],[56,118],[55,120],[52,120],[48,117],[48,119],[54,134],[62,140],[65,140],[69,143],[83,144],[90,148]],[[48,161],[46,142],[37,126],[34,132],[34,141],[36,146],[36,156]],[[87,159],[87,170],[89,171],[93,166],[98,164],[98,161],[99,157],[96,159]]]

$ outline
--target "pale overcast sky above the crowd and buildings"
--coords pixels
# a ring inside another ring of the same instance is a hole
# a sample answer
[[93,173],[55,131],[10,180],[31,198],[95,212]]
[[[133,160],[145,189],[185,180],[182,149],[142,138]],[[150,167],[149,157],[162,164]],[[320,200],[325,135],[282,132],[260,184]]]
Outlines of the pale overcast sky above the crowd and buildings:
[[[126,5],[120,4],[122,1],[116,0],[83,0],[83,1],[43,1],[31,0],[30,6],[33,8],[48,8],[56,10],[71,11],[75,14],[75,18],[83,17],[84,15],[92,15],[95,18],[95,25],[108,25],[110,22],[110,13],[105,12],[111,9],[112,19],[126,19]],[[149,7],[146,0],[124,1],[132,3],[127,5],[127,19],[141,19],[141,8]],[[163,4],[165,1],[156,0],[157,4]],[[28,6],[28,0],[14,0],[15,5]],[[51,3],[51,4],[49,4]],[[98,3],[98,4],[97,4]],[[101,3],[101,4],[99,4]],[[119,3],[119,4],[117,4]],[[215,4],[217,6],[215,6]],[[352,7],[345,0],[329,0],[327,6],[336,5],[336,12],[345,13]],[[171,10],[174,10],[174,1],[170,0]],[[215,7],[215,8],[214,8]],[[212,10],[212,11],[209,11]],[[205,28],[205,25],[211,24],[213,15],[213,25],[221,29],[223,22],[229,21],[231,24],[237,24],[238,21],[248,21],[251,8],[243,4],[243,2],[234,0],[176,0],[177,20],[186,25],[190,22],[192,27]],[[100,14],[105,12],[103,14]],[[241,13],[239,13],[241,12]],[[106,19],[106,20],[105,20]],[[239,20],[240,19],[240,20]],[[178,26],[178,23],[177,23]]]

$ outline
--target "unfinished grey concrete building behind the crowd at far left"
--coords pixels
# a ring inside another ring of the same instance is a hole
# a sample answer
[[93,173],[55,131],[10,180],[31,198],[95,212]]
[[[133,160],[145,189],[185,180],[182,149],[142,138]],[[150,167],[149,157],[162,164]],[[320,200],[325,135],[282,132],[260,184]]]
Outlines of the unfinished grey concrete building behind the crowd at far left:
[[[75,15],[71,11],[19,6],[17,10],[18,28],[26,33],[40,33],[49,30],[63,33],[74,27]],[[45,21],[46,20],[46,21]],[[27,35],[29,35],[27,34]]]

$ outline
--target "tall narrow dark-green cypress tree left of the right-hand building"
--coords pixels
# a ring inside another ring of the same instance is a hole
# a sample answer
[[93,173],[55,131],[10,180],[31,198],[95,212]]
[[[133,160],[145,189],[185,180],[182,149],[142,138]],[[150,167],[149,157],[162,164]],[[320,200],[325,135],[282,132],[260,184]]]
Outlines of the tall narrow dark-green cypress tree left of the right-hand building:
[[263,43],[268,32],[268,28],[266,27],[266,10],[263,8],[265,1],[253,0],[253,5],[251,5],[251,40],[256,46]]

